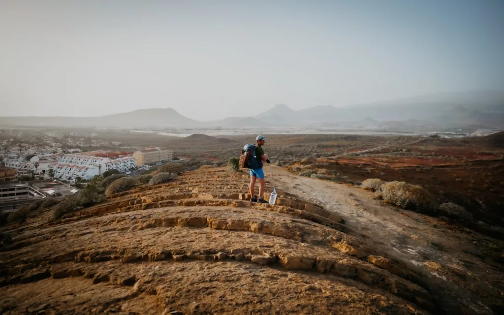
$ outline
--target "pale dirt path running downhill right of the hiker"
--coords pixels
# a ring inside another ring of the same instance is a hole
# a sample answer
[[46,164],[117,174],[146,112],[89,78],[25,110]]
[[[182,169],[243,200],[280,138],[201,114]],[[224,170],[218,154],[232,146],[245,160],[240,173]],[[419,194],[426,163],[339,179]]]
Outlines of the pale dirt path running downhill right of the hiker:
[[265,173],[269,185],[342,215],[349,235],[380,255],[420,271],[433,285],[446,287],[447,293],[457,292],[460,302],[468,303],[475,313],[491,313],[491,309],[465,291],[467,287],[481,286],[495,290],[496,296],[504,295],[502,266],[485,257],[477,240],[500,241],[385,205],[373,200],[373,193],[353,186],[297,176],[276,166],[267,166]]

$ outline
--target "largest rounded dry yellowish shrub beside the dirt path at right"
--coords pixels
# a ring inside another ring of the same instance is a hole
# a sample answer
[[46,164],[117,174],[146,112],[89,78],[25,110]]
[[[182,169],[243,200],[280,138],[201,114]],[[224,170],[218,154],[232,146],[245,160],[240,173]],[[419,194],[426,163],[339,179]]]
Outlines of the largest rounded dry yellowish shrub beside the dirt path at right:
[[420,213],[435,212],[437,210],[437,202],[426,190],[404,181],[383,183],[381,194],[385,202],[403,209]]

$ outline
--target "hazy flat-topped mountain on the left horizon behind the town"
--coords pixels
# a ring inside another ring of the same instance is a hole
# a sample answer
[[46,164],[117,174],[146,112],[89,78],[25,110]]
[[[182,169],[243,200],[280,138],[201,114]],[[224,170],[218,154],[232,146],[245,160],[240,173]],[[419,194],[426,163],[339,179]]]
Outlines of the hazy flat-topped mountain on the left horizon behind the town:
[[0,125],[49,127],[186,127],[199,121],[180,115],[173,108],[139,109],[98,117],[0,117]]

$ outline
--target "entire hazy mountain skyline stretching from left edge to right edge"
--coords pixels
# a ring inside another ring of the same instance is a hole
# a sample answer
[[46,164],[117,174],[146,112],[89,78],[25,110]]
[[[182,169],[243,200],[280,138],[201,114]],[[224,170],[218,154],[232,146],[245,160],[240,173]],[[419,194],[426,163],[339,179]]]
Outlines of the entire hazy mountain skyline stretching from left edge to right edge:
[[[490,95],[488,95],[490,93]],[[362,105],[334,107],[318,105],[293,110],[277,104],[264,112],[248,117],[227,117],[213,121],[198,121],[185,117],[175,109],[150,108],[104,116],[11,116],[0,117],[0,125],[30,125],[33,127],[281,127],[294,124],[325,124],[341,122],[407,121],[435,122],[441,125],[475,124],[481,127],[504,125],[504,92],[478,91],[439,93],[382,101]],[[451,97],[451,98],[450,98]],[[479,101],[478,101],[479,99]],[[450,101],[452,100],[452,101]]]

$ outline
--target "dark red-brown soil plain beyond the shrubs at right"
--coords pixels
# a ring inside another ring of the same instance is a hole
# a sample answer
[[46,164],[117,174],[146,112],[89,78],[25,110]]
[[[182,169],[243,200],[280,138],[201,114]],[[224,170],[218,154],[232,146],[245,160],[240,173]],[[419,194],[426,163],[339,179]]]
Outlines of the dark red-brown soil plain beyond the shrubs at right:
[[372,153],[298,162],[290,169],[330,170],[339,182],[406,181],[422,186],[440,203],[465,207],[475,222],[504,226],[503,156],[503,150],[488,146],[484,139],[428,139]]

